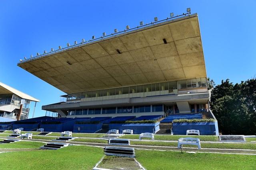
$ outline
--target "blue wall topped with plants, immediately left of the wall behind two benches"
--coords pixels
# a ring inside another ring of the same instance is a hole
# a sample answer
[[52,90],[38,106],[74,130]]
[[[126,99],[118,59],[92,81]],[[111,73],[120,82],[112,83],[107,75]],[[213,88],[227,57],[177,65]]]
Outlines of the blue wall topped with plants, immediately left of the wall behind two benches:
[[[102,129],[102,124],[74,124],[74,133],[94,133],[100,129]],[[78,127],[80,127],[80,131],[78,131]]]

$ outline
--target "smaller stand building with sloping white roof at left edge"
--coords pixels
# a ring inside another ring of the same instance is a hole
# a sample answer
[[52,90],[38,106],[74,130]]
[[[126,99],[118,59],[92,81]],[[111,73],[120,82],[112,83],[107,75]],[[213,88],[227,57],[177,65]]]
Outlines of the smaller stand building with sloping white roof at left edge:
[[31,101],[40,102],[0,82],[0,122],[28,119]]

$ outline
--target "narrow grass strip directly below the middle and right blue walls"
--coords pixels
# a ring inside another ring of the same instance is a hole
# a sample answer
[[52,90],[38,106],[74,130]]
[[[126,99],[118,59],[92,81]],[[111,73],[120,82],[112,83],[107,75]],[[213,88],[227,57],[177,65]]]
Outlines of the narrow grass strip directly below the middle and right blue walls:
[[[119,137],[121,139],[139,139],[140,135],[124,135],[122,137]],[[155,140],[160,141],[178,141],[181,137],[194,137],[199,138],[200,141],[219,141],[219,138],[217,136],[193,136],[193,135],[154,135]],[[146,139],[146,138],[144,138]],[[150,138],[148,138],[150,139]]]

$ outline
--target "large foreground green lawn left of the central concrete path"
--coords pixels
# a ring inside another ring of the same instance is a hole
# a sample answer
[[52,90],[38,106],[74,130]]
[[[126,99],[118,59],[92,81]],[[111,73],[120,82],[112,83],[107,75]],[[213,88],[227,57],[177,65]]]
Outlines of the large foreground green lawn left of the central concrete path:
[[59,150],[8,152],[0,154],[0,169],[92,170],[103,155],[102,148],[87,146],[69,146]]

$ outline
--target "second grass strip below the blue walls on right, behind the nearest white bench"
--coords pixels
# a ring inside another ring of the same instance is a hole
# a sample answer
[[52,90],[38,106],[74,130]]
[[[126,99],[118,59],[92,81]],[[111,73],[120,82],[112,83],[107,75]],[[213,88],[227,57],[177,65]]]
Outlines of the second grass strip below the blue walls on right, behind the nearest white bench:
[[[130,141],[130,145],[178,147],[178,142]],[[196,145],[183,145],[183,147],[196,148]],[[202,148],[214,149],[256,149],[254,143],[201,143]]]

